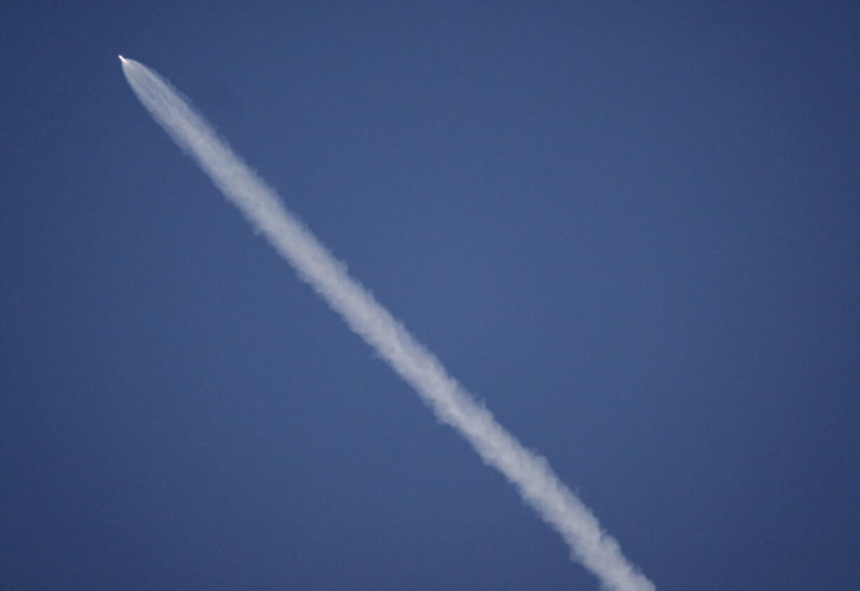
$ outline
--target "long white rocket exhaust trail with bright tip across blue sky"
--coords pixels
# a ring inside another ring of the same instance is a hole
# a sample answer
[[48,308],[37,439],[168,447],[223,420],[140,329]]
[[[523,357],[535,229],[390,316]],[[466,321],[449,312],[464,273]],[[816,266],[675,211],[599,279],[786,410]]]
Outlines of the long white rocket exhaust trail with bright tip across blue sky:
[[654,589],[654,583],[627,561],[615,539],[600,528],[597,518],[562,484],[546,460],[504,430],[432,353],[349,277],[346,267],[286,210],[276,192],[169,82],[132,59],[120,56],[120,61],[134,93],[164,130],[200,163],[212,182],[299,276],[415,388],[439,420],[458,430],[482,460],[504,474],[537,514],[561,533],[571,557],[591,570],[606,589]]

